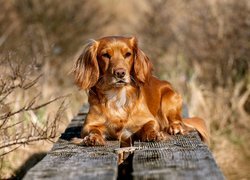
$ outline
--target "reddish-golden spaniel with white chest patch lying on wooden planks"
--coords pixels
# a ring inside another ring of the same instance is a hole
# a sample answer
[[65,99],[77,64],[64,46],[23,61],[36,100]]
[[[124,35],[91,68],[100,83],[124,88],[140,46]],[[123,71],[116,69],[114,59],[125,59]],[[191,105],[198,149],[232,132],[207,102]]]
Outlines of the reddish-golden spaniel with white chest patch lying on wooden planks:
[[91,40],[73,67],[76,84],[88,91],[90,104],[82,139],[73,141],[98,146],[115,139],[127,146],[131,139],[161,141],[197,130],[208,142],[204,120],[183,119],[182,97],[152,70],[136,37]]

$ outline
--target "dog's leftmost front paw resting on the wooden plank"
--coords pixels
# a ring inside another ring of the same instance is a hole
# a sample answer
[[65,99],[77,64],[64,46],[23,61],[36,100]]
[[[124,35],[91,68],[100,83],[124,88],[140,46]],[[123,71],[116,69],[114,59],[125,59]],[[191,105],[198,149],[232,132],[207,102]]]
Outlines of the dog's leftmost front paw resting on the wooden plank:
[[85,146],[103,146],[105,145],[105,140],[99,134],[89,134],[85,136],[82,141],[82,145]]

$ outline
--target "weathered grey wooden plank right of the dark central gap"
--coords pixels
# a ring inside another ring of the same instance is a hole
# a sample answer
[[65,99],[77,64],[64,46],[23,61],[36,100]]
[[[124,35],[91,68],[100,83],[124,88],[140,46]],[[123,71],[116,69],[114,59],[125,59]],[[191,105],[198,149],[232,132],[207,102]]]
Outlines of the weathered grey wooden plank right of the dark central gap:
[[167,142],[137,142],[134,179],[224,179],[208,147],[197,132],[177,135]]

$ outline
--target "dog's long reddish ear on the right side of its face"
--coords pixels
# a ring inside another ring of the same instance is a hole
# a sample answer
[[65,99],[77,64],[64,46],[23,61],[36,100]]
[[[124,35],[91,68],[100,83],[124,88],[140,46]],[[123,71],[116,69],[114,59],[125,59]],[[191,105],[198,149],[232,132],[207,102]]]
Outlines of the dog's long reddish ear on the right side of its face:
[[138,47],[138,41],[135,37],[131,38],[134,51],[134,76],[139,83],[144,84],[152,74],[153,66],[149,58]]

